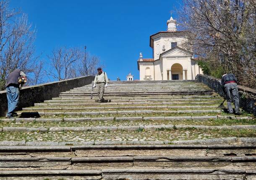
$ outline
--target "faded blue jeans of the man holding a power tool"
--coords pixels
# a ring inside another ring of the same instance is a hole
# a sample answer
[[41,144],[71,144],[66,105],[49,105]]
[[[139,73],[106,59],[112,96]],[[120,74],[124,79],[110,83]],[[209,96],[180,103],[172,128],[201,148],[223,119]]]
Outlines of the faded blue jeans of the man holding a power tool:
[[6,116],[12,116],[14,110],[18,106],[18,97],[20,94],[20,91],[17,87],[14,86],[8,86],[6,88],[6,94],[7,94],[7,100],[8,100],[8,112],[6,113]]

